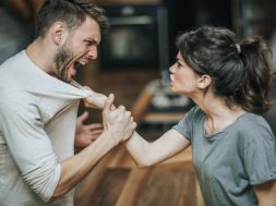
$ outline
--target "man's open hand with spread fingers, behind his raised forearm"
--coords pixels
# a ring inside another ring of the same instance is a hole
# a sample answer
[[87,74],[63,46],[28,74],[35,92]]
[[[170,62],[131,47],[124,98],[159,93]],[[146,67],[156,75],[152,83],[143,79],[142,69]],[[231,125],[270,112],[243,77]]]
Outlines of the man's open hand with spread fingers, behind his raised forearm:
[[76,148],[84,148],[95,141],[104,131],[103,124],[84,124],[84,121],[88,118],[88,112],[82,113],[76,121],[75,141],[74,146]]

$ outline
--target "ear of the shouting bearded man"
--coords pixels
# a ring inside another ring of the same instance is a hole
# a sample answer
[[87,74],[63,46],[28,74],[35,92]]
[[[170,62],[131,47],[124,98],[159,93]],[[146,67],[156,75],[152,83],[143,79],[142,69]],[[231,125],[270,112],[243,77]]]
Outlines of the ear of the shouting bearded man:
[[67,36],[68,29],[64,23],[56,22],[51,26],[51,38],[57,46],[62,45],[65,41]]

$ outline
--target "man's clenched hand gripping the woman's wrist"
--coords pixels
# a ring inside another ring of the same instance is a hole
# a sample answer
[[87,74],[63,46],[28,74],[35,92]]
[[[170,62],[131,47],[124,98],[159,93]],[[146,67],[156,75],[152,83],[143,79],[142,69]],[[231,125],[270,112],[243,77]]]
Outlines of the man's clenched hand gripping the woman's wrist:
[[128,140],[136,129],[136,123],[133,122],[130,111],[125,111],[123,106],[113,108],[115,96],[108,96],[104,111],[103,123],[105,131],[110,131],[116,142]]

